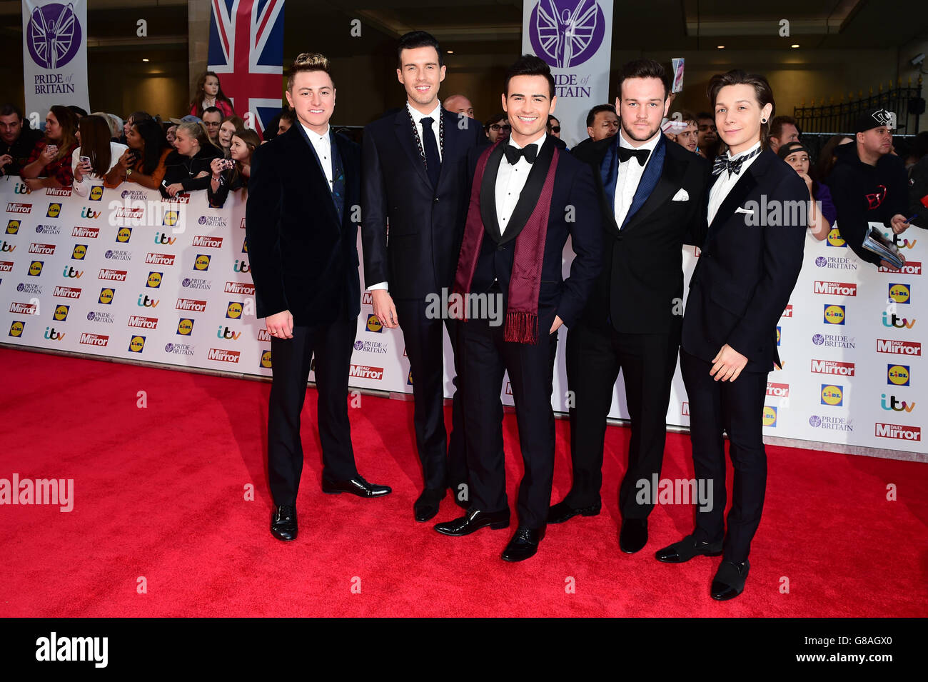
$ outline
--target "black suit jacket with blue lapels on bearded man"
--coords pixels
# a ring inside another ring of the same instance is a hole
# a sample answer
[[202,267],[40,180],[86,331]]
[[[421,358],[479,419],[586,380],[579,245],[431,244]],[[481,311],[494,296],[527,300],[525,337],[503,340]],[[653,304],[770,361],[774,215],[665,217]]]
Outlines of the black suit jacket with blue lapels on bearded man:
[[[599,328],[608,327],[611,321],[616,331],[630,334],[678,331],[683,310],[682,249],[684,244],[702,245],[705,237],[709,166],[698,154],[666,138],[659,140],[654,149],[656,154],[664,146],[659,180],[620,230],[609,196],[614,197],[615,178],[607,193],[603,182],[608,169],[602,168],[618,140],[615,135],[572,150],[574,157],[592,168],[602,211],[602,273],[586,304],[584,321]],[[651,158],[648,165],[654,161]],[[627,162],[638,163],[635,159]],[[689,199],[673,200],[680,189]]]

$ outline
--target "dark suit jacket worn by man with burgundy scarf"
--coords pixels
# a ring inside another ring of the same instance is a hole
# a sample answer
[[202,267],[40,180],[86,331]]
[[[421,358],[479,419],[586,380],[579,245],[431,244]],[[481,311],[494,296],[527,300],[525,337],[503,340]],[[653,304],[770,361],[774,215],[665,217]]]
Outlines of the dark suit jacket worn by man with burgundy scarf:
[[[499,164],[508,163],[503,148],[508,140],[490,152],[483,183],[480,188],[480,212],[483,218],[483,242],[477,267],[470,284],[470,291],[480,293],[488,290],[494,279],[499,280],[503,302],[509,305],[509,279],[515,254],[516,237],[522,232],[526,221],[535,209],[541,188],[545,184],[550,161],[554,154],[555,139],[545,138],[532,164],[519,202],[509,218],[505,232],[500,234],[496,216],[496,174]],[[475,148],[468,153],[470,200],[477,161],[486,148]],[[568,328],[573,326],[583,312],[593,282],[601,266],[601,218],[596,200],[593,177],[586,164],[577,161],[563,149],[560,150],[558,168],[554,175],[554,190],[551,208],[548,211],[548,232],[545,238],[545,255],[541,265],[541,286],[538,292],[539,318],[542,311],[553,310]],[[564,244],[571,237],[574,262],[570,277],[561,277]],[[547,332],[547,329],[540,330]]]

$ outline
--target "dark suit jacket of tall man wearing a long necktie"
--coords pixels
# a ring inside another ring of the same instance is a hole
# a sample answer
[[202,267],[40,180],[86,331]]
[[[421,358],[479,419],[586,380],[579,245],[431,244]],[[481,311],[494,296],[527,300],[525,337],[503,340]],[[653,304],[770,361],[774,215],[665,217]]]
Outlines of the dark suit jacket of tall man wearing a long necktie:
[[[440,110],[445,148],[437,188],[426,174],[406,107],[364,129],[364,278],[368,287],[388,282],[394,298],[424,300],[430,292],[454,285],[467,212],[465,161],[483,128],[473,119]],[[461,121],[468,126],[459,127]]]

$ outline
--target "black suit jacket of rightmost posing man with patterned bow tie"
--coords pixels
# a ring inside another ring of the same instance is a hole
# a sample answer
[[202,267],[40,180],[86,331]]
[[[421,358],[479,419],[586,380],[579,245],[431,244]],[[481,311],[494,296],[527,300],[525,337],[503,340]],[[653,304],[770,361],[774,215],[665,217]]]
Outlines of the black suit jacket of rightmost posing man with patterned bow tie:
[[[780,210],[780,225],[764,223],[774,222],[774,202],[781,209],[797,205],[787,201],[801,202],[807,209],[808,199],[806,183],[772,151],[762,151],[741,172],[708,226],[690,280],[682,337],[687,353],[711,362],[728,343],[748,358],[746,371],[769,372],[780,363],[777,322],[803,266],[808,215],[790,220],[792,211],[784,216]],[[767,216],[761,215],[764,205]]]

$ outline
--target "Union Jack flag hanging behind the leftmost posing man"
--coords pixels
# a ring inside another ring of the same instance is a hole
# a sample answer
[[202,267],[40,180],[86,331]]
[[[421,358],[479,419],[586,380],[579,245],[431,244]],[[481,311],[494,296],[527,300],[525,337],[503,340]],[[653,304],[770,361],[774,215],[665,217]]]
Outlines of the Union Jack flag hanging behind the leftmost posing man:
[[238,116],[264,137],[281,107],[284,0],[211,0],[209,71]]

